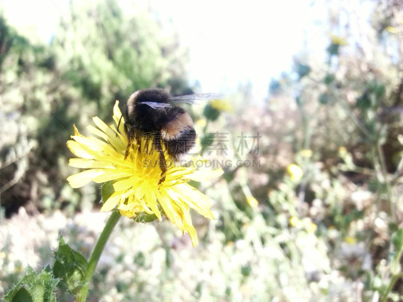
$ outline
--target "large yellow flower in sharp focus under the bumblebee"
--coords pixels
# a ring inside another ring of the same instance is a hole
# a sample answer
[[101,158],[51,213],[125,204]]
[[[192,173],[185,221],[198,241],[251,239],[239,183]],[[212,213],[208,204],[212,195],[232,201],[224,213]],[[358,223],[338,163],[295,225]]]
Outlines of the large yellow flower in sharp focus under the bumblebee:
[[[121,115],[116,101],[113,108],[116,125]],[[154,152],[151,140],[141,139],[140,148],[136,141],[133,142],[134,151],[124,160],[128,143],[126,135],[121,134],[124,133],[124,120],[119,125],[120,133],[115,125],[108,126],[98,117],[94,117],[93,121],[98,128],[88,126],[87,129],[102,139],[85,137],[74,127],[75,135],[67,142],[69,149],[78,157],[70,159],[69,165],[88,169],[69,176],[67,180],[70,185],[80,188],[91,181],[113,181],[114,193],[104,200],[101,211],[110,211],[117,206],[122,215],[130,218],[148,213],[155,214],[161,220],[162,208],[172,223],[182,232],[189,233],[193,247],[196,246],[197,234],[189,208],[210,219],[214,219],[214,216],[210,210],[209,197],[187,182],[218,177],[223,171],[195,171],[195,165],[182,167],[168,163],[165,181],[159,184],[159,153]]]

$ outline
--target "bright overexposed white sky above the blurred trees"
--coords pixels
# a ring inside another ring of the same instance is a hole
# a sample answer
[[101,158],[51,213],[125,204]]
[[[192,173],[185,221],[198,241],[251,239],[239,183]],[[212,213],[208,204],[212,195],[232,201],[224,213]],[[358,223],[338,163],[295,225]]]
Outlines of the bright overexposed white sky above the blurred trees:
[[[11,24],[35,27],[45,41],[64,17],[60,10],[68,11],[68,0],[1,1]],[[327,19],[321,1],[150,1],[172,18],[182,45],[189,46],[191,80],[199,80],[203,92],[228,93],[249,80],[256,99],[261,99],[272,77],[290,67],[304,42],[310,49],[324,49],[328,43],[323,39],[326,28],[316,35]]]

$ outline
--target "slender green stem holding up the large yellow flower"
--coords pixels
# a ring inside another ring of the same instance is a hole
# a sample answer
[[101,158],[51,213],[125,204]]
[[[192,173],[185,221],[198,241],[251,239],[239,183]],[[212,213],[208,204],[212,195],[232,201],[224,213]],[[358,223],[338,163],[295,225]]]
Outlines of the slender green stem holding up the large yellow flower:
[[112,214],[109,216],[108,221],[105,224],[105,228],[103,229],[101,236],[98,239],[97,244],[95,245],[94,251],[92,252],[90,261],[88,262],[87,266],[87,281],[88,284],[84,286],[80,292],[76,296],[76,302],[85,302],[88,294],[88,288],[90,286],[90,281],[92,279],[92,274],[94,273],[95,267],[98,264],[99,258],[101,257],[102,251],[105,248],[106,242],[109,239],[110,234],[113,231],[113,228],[115,228],[115,225],[117,221],[119,221],[120,218],[120,213],[119,212],[112,212]]

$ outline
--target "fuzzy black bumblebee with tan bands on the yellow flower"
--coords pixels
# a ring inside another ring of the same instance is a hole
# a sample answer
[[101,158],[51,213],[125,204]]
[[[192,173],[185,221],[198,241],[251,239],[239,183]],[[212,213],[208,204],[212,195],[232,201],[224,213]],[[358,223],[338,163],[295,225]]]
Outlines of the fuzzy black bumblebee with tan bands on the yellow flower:
[[159,184],[162,183],[168,169],[162,145],[165,147],[169,160],[178,163],[195,145],[196,141],[196,131],[190,115],[176,104],[193,104],[197,100],[211,100],[221,97],[222,95],[213,93],[173,97],[167,91],[159,88],[136,91],[128,98],[123,113],[125,118],[124,131],[128,139],[124,159],[127,159],[132,151],[135,139],[138,146],[141,147],[140,140],[151,135],[154,150],[159,152],[159,166],[161,168]]

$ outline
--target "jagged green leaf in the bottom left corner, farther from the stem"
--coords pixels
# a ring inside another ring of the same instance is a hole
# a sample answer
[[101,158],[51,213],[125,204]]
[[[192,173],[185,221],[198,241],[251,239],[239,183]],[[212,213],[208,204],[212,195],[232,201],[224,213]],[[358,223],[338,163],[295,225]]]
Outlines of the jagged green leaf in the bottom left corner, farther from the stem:
[[39,275],[28,266],[21,281],[7,293],[5,302],[56,302],[54,289],[57,283],[49,266]]

